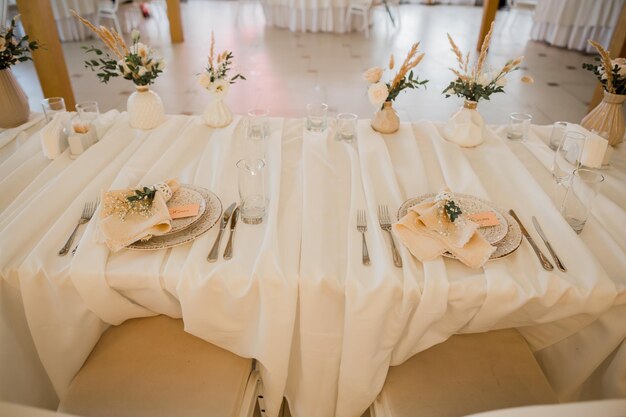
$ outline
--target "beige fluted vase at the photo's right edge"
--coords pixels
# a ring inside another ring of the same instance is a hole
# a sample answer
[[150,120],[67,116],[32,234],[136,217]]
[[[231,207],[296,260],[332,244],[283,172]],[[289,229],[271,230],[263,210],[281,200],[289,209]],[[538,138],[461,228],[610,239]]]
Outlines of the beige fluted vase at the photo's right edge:
[[595,130],[615,146],[624,140],[624,113],[622,106],[626,94],[604,92],[604,99],[586,115],[580,124],[587,130]]

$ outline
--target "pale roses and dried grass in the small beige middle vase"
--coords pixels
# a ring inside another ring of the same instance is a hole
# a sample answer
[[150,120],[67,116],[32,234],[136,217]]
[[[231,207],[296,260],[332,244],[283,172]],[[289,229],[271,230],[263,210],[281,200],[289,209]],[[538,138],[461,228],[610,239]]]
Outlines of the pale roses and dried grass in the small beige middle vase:
[[[402,66],[390,82],[381,81],[384,69],[373,67],[363,73],[363,79],[371,85],[367,90],[370,103],[377,107],[382,107],[385,101],[394,101],[400,92],[406,88],[419,88],[426,86],[428,80],[420,80],[419,76],[413,73],[415,68],[424,58],[424,53],[419,52],[419,42],[413,44],[407,54]],[[389,58],[389,70],[393,70],[393,55]]]

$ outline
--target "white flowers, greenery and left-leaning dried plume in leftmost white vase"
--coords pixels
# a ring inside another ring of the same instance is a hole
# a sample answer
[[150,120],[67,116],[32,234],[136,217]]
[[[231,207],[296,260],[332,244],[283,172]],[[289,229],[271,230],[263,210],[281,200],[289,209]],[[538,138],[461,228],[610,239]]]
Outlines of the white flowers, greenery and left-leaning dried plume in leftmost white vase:
[[128,47],[115,29],[107,29],[104,26],[95,27],[74,10],[71,12],[74,17],[91,29],[114,55],[112,57],[108,52],[94,46],[83,46],[87,53],[93,52],[97,56],[97,59],[85,61],[85,68],[96,71],[103,83],[108,83],[111,78],[122,77],[137,86],[147,86],[153,84],[165,69],[165,60],[154,49],[139,42],[141,35],[138,30],[133,30],[133,44]]

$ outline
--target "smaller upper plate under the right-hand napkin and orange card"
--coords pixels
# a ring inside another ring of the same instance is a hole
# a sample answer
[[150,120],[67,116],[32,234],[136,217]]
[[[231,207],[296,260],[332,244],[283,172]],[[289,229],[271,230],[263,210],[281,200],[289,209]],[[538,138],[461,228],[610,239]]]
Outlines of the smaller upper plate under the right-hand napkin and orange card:
[[[398,210],[398,220],[406,215],[409,207],[413,207],[426,200],[432,200],[435,196],[436,194],[425,194],[405,201]],[[498,225],[486,226],[478,229],[478,232],[487,242],[489,242],[490,245],[498,243],[504,238],[504,236],[506,236],[509,229],[508,222],[500,210],[494,208],[493,204],[485,200],[481,200],[480,198],[465,194],[455,194],[454,201],[459,205],[464,214],[476,214],[491,211],[496,215],[499,222]]]

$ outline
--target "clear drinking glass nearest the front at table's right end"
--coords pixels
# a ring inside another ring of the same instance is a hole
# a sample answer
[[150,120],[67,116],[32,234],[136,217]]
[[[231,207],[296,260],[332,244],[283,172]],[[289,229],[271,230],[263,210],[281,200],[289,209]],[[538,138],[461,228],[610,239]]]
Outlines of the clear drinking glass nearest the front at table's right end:
[[578,234],[585,227],[602,181],[604,181],[602,174],[586,168],[574,170],[570,178],[570,185],[561,205],[561,214]]

